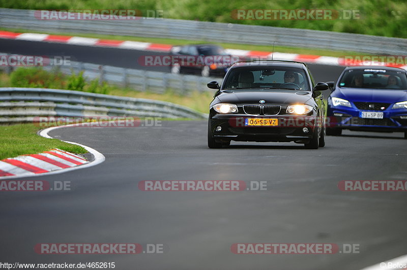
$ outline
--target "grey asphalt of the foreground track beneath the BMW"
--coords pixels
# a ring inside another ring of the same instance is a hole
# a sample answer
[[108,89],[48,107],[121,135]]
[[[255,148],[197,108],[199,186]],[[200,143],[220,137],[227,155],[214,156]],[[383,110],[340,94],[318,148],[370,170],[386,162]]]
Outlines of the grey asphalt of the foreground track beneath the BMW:
[[[2,192],[2,261],[115,262],[116,269],[357,270],[405,254],[405,192],[345,192],[341,180],[406,180],[398,133],[344,131],[326,147],[208,149],[206,121],[69,127],[53,138],[105,162],[59,175],[71,191]],[[267,191],[141,191],[143,180],[267,181]],[[39,255],[37,243],[162,243],[164,254]],[[236,255],[234,243],[359,244],[359,254]]]

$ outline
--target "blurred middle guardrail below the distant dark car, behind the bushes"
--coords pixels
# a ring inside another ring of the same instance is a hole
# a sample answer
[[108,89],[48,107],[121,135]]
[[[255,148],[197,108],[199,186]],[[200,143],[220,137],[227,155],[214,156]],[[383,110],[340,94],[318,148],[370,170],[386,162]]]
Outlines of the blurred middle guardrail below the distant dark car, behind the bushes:
[[[1,55],[15,55],[0,53]],[[50,58],[50,62],[53,62]],[[110,65],[99,65],[84,62],[70,61],[68,65],[45,65],[44,70],[51,71],[58,69],[66,75],[79,73],[83,71],[83,77],[87,80],[99,79],[110,84],[118,85],[123,88],[134,89],[138,91],[152,91],[155,93],[163,93],[166,90],[171,90],[177,94],[190,94],[193,91],[210,91],[207,84],[210,81],[221,82],[221,78],[201,77],[184,74],[171,74],[165,72],[155,72],[146,70],[126,69],[124,67],[116,67]],[[10,66],[0,66],[0,69],[7,73],[11,72]]]

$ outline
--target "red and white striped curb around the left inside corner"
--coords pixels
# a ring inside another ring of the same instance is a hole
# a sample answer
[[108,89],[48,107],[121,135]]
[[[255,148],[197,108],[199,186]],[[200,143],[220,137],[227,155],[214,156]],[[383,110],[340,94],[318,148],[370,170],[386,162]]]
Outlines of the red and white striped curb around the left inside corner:
[[[75,125],[77,124],[46,128],[40,132],[40,136],[51,139],[51,137],[48,135],[49,131],[56,128],[70,127]],[[39,154],[6,158],[0,160],[0,179],[3,180],[38,175],[60,174],[77,170],[79,168],[94,166],[105,160],[104,155],[93,148],[72,142],[66,143],[79,145],[85,148],[94,156],[94,160],[90,162],[80,155],[60,149],[52,149]]]

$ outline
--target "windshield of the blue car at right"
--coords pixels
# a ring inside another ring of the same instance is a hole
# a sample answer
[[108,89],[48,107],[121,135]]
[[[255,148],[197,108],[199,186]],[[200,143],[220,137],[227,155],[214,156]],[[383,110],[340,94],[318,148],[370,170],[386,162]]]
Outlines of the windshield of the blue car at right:
[[339,87],[407,89],[405,72],[386,69],[351,69],[339,81]]

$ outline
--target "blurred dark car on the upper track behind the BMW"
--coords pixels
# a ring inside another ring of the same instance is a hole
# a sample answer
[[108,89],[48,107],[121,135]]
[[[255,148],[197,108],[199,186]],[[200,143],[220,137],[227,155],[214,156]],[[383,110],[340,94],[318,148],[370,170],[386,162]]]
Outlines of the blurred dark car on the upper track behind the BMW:
[[200,74],[203,77],[223,77],[229,67],[239,60],[217,45],[185,45],[171,48],[171,73]]

